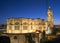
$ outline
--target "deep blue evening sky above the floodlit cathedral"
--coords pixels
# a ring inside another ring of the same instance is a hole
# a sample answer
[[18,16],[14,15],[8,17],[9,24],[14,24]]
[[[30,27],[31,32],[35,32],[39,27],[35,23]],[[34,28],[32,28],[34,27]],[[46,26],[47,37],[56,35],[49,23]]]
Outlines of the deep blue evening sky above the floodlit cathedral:
[[60,0],[0,0],[0,24],[11,17],[47,20],[49,6],[53,10],[54,23],[60,24]]

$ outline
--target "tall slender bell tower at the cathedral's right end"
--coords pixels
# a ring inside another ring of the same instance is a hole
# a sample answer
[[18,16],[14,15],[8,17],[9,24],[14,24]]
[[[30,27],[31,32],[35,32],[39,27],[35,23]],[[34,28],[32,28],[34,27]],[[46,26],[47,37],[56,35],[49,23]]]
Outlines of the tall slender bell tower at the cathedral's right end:
[[51,7],[48,8],[48,11],[47,11],[47,21],[48,21],[48,25],[53,28],[54,26],[54,19],[53,19],[53,11],[51,9]]

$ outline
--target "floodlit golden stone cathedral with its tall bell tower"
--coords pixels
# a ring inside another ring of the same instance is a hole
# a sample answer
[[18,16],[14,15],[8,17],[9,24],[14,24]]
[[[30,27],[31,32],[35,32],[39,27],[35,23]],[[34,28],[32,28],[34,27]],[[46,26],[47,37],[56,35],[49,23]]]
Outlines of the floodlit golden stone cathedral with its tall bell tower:
[[47,11],[47,20],[36,18],[9,18],[7,19],[7,33],[31,33],[37,30],[47,31],[48,27],[54,26],[53,12],[49,7]]

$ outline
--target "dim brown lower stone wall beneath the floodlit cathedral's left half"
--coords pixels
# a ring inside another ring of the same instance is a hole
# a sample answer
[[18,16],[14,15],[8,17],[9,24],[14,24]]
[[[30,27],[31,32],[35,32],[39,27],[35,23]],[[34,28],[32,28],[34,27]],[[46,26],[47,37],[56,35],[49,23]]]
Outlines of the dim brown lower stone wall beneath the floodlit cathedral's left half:
[[11,43],[26,43],[24,35],[9,35]]

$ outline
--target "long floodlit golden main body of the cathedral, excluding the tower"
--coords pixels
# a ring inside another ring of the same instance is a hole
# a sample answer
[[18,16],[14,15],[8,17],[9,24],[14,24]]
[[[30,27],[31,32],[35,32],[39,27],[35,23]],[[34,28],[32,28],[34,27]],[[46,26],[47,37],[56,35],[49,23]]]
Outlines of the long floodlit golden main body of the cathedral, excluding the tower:
[[7,20],[7,33],[31,33],[46,29],[43,19],[10,18]]

